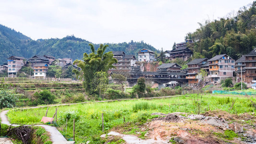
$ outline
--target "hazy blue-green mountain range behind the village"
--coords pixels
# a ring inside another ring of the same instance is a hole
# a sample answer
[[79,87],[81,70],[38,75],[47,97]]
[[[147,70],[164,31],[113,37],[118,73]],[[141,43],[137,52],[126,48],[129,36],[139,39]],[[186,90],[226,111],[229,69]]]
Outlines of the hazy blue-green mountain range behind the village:
[[[56,59],[58,58],[72,58],[73,60],[82,59],[83,54],[90,53],[91,42],[77,38],[75,36],[66,36],[64,38],[50,38],[50,39],[37,39],[24,36],[20,32],[0,25],[0,64],[6,63],[7,58],[15,56],[23,56],[24,58],[31,58],[33,55],[52,55]],[[95,48],[99,47],[99,44],[93,44]],[[124,51],[126,54],[138,55],[138,51],[146,48],[152,51],[157,51],[156,48],[149,44],[141,42],[129,43],[123,42],[118,44],[105,43],[109,45],[106,49],[108,51]]]

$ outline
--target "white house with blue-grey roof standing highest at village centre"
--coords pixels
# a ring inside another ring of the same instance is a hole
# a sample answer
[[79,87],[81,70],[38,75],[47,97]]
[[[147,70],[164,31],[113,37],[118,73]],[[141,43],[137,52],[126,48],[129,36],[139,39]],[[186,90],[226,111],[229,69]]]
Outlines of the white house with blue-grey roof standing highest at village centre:
[[146,62],[155,61],[155,52],[145,48],[140,50],[138,52],[138,61],[146,61]]

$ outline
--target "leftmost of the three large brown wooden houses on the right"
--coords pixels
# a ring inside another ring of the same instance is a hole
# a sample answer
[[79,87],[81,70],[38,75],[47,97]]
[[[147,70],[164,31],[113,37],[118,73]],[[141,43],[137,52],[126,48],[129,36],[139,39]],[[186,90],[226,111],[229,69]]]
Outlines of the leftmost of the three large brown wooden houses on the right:
[[188,73],[186,74],[186,79],[188,80],[188,84],[197,84],[201,79],[202,75],[200,75],[201,66],[207,63],[207,58],[202,59],[194,59],[187,63],[188,65]]

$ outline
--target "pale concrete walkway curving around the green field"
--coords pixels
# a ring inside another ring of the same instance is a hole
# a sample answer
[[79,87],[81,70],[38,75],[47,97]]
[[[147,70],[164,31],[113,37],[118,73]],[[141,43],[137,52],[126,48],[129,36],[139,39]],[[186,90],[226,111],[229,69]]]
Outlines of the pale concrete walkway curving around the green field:
[[[179,95],[181,96],[181,95]],[[140,99],[154,99],[154,98],[168,98],[168,97],[177,97],[177,96],[160,96],[160,97],[148,97],[148,98],[140,98]],[[112,101],[122,101],[122,100],[138,100],[138,99],[116,99],[116,100],[104,100],[104,101],[97,101],[96,103],[100,102],[112,102]],[[65,106],[65,105],[76,105],[76,104],[85,104],[85,103],[94,103],[94,102],[82,102],[82,103],[73,103],[73,104],[58,104],[58,105],[47,105],[47,106],[39,106],[39,107],[30,107],[30,108],[44,108],[44,107],[54,107],[54,106]],[[29,108],[22,108],[22,109],[29,109]],[[3,110],[0,113],[1,123],[11,125],[11,123],[8,121],[8,118],[6,114],[9,110]],[[12,124],[13,126],[19,126],[17,124]],[[50,133],[50,139],[53,142],[53,144],[74,144],[73,141],[67,141],[64,136],[59,132],[55,127],[40,124],[35,125],[43,127],[47,132]]]

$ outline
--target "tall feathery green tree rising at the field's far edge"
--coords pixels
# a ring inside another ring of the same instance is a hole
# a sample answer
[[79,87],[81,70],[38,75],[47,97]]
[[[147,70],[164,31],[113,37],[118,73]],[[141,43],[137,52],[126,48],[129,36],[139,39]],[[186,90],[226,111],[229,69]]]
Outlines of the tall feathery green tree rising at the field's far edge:
[[85,87],[85,91],[88,94],[98,94],[98,92],[94,91],[94,86],[91,85],[91,81],[94,79],[96,72],[107,72],[111,68],[115,68],[112,64],[117,63],[117,60],[113,58],[112,51],[105,52],[108,45],[103,46],[100,44],[97,52],[95,52],[95,48],[92,44],[89,44],[92,53],[89,55],[84,53],[84,58],[82,60],[75,60],[73,63],[77,64],[82,71],[84,72],[83,86]]

